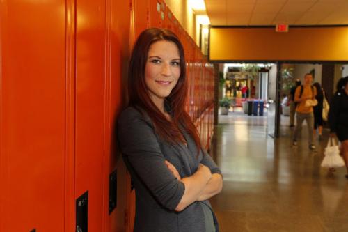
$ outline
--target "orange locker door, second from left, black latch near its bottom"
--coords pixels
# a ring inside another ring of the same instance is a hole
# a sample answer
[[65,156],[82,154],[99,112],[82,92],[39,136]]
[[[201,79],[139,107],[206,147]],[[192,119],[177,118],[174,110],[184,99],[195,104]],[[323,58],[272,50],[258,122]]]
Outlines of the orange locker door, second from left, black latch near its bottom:
[[103,178],[105,18],[105,1],[77,1],[75,199],[88,191],[88,218],[81,219],[88,219],[88,231],[104,230],[104,199],[108,190]]

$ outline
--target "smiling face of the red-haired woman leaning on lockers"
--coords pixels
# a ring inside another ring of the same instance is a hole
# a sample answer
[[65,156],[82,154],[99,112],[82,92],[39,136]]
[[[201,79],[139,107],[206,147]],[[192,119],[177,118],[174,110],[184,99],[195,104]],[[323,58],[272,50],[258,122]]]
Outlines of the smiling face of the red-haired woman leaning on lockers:
[[145,65],[145,84],[154,102],[166,98],[180,77],[180,54],[174,42],[154,42]]

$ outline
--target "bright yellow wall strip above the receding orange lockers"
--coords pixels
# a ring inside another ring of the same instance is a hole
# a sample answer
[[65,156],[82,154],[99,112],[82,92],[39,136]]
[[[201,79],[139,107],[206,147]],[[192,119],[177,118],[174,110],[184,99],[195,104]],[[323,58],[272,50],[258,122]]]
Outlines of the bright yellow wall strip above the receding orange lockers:
[[197,42],[196,17],[193,10],[189,7],[189,0],[165,0],[165,2],[185,31]]

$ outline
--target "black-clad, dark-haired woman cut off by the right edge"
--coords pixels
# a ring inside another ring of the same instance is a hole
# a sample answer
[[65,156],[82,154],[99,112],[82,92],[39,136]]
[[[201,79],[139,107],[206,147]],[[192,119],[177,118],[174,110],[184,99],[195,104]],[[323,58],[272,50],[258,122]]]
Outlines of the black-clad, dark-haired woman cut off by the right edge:
[[340,154],[345,160],[348,179],[348,76],[340,79],[329,110],[330,136],[341,142]]

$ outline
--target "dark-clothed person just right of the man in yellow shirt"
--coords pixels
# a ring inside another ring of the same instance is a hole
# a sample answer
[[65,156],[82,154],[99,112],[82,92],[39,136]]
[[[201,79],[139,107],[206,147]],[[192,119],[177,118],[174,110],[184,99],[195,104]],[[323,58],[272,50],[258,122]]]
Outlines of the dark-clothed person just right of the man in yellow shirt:
[[313,86],[317,89],[317,95],[315,95],[315,99],[318,101],[318,104],[313,107],[314,114],[314,130],[313,136],[317,135],[318,130],[318,138],[322,139],[322,131],[323,131],[323,101],[324,101],[324,91],[322,90],[322,86],[318,82],[315,82]]

